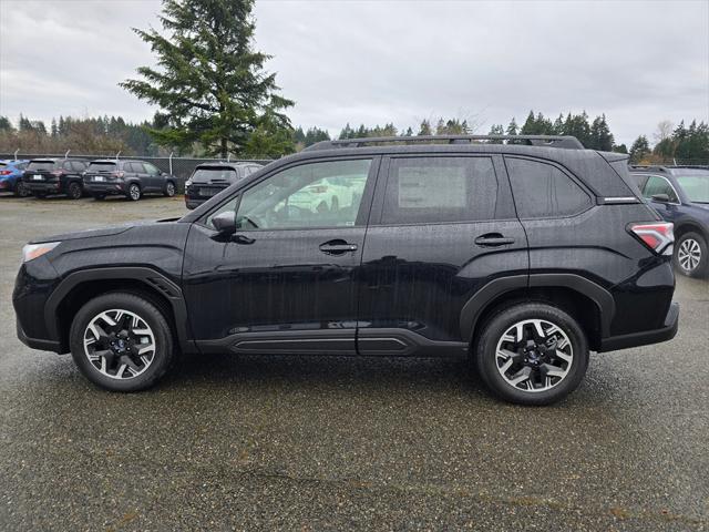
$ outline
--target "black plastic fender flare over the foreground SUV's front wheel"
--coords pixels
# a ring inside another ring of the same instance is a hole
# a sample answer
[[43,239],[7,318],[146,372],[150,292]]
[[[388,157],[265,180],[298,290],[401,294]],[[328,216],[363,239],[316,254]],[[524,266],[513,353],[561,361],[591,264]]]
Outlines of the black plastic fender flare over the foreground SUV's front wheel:
[[177,335],[179,347],[187,352],[196,350],[194,342],[188,338],[189,321],[182,288],[160,272],[142,266],[91,268],[69,274],[52,291],[44,305],[44,323],[50,338],[60,338],[56,310],[71,290],[90,280],[120,279],[140,280],[146,287],[163,295],[169,303],[175,317],[175,334]]

